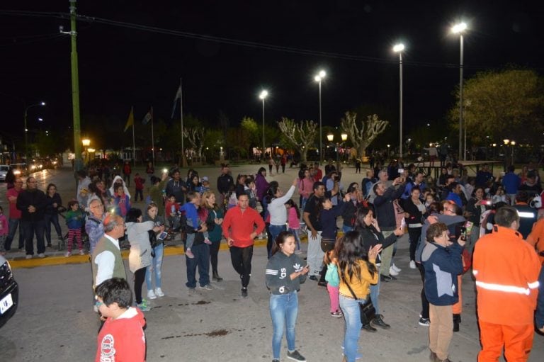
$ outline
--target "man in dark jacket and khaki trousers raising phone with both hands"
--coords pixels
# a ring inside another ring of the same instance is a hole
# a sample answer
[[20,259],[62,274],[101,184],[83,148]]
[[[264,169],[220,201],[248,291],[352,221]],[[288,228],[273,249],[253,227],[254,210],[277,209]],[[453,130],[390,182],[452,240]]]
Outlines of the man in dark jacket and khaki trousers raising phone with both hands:
[[[397,185],[400,186],[395,189],[395,186]],[[400,177],[397,177],[388,188],[385,188],[385,184],[382,182],[376,183],[373,187],[373,191],[376,194],[376,197],[374,198],[376,219],[378,219],[378,225],[380,225],[384,238],[387,238],[397,228],[397,219],[395,218],[397,211],[395,210],[393,201],[402,196],[405,187],[406,183],[404,183]],[[380,275],[384,281],[390,281],[392,279],[390,276],[390,268],[392,267],[393,249],[394,247],[389,247],[382,250]],[[394,271],[393,273],[397,274],[398,272]]]

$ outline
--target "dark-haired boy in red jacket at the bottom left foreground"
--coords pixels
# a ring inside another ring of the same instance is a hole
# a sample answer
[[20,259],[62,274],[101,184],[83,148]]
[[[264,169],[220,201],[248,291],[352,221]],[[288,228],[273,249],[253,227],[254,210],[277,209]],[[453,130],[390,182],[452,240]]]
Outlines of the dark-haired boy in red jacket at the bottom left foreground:
[[96,287],[96,305],[106,318],[98,332],[95,362],[144,362],[145,318],[132,305],[132,292],[123,278],[111,278]]

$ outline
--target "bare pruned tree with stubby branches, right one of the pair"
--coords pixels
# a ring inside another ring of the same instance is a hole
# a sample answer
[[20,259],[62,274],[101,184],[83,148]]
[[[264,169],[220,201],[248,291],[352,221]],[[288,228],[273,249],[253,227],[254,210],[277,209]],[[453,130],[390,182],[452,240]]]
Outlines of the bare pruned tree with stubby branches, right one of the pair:
[[368,115],[367,120],[357,125],[357,113],[346,112],[346,117],[340,121],[341,128],[349,135],[353,147],[357,149],[358,157],[365,157],[365,149],[375,140],[389,124],[387,120],[380,120],[378,115]]

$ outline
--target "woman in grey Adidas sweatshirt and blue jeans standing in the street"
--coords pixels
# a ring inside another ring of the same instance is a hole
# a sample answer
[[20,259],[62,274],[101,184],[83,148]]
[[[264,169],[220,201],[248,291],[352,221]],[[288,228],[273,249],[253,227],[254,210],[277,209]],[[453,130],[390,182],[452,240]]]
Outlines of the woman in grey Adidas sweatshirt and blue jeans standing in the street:
[[[280,232],[272,247],[272,257],[266,264],[266,288],[270,290],[270,316],[272,318],[272,362],[280,361],[283,329],[287,338],[287,357],[293,361],[306,361],[295,349],[295,324],[298,315],[298,291],[306,281],[309,267],[295,254],[295,236]],[[278,252],[279,251],[279,252]]]

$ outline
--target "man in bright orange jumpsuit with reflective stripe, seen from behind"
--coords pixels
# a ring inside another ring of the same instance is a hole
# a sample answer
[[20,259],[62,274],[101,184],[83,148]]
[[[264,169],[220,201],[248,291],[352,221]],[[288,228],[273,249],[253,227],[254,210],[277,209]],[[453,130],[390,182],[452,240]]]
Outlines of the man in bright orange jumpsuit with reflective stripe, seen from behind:
[[499,208],[491,234],[474,251],[478,319],[482,351],[478,362],[527,361],[533,346],[533,312],[538,295],[538,256],[519,232],[511,206]]

